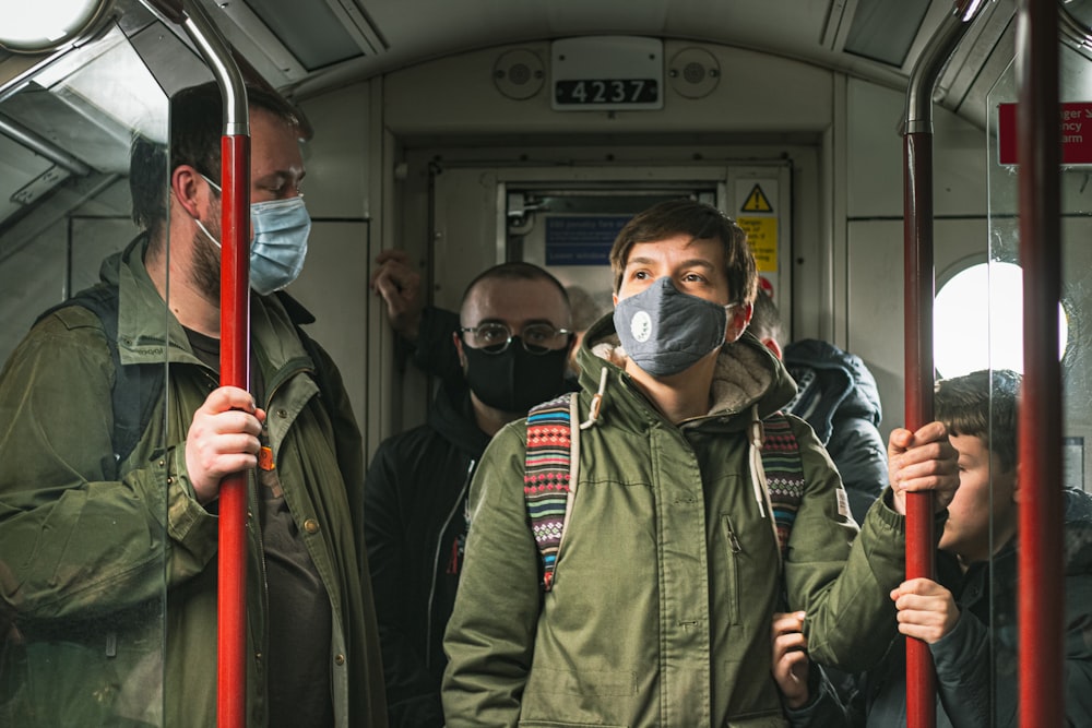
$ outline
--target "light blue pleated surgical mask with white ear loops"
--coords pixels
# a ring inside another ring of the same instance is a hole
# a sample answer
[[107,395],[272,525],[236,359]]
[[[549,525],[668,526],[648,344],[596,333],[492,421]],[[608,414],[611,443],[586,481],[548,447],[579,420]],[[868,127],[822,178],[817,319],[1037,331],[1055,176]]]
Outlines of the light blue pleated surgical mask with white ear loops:
[[[216,182],[207,177],[204,179],[217,192],[221,191]],[[218,248],[219,240],[209,232],[201,220],[194,218],[194,222]],[[285,200],[251,203],[250,225],[254,230],[250,240],[250,287],[254,293],[268,296],[295,281],[304,270],[311,217],[300,194]]]

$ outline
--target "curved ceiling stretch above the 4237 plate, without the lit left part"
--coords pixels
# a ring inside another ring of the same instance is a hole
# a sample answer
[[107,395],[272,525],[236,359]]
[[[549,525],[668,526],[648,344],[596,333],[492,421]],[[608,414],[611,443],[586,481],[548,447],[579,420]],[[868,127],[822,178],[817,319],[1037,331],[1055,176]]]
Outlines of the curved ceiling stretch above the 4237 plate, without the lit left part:
[[[500,39],[519,43],[601,34],[736,46],[901,87],[933,32],[954,7],[952,0],[320,0],[316,4],[325,5],[328,12],[305,20],[299,4],[245,0],[225,12],[233,15],[240,36],[257,24],[250,8],[262,7],[270,15],[283,12],[280,22],[269,23],[274,38],[260,32],[235,40],[240,47],[252,43],[254,58],[270,59],[262,69],[269,76],[304,92]],[[950,108],[964,103],[980,74],[999,72],[1012,58],[1011,35],[1007,41],[1004,38],[1011,33],[1014,0],[992,0],[987,5],[983,14],[988,17],[976,23],[975,43],[963,44],[965,50],[953,59],[941,82],[951,97]],[[309,23],[324,23],[322,35],[312,34]],[[1001,52],[994,68],[987,68],[998,45]],[[288,62],[281,62],[285,58]]]

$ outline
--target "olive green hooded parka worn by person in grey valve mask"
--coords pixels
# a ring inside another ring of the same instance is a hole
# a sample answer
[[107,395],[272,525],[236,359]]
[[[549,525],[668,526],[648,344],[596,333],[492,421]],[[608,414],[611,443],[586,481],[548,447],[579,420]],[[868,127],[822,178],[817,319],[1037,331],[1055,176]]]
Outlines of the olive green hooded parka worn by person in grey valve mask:
[[446,634],[447,725],[787,725],[772,613],[784,598],[807,611],[814,659],[876,661],[895,633],[903,517],[877,502],[858,536],[830,458],[790,417],[807,485],[782,569],[748,429],[756,407],[765,417],[795,393],[784,368],[746,334],[722,348],[710,414],[676,426],[619,368],[613,333],[608,315],[579,353],[581,420],[607,377],[598,417],[579,432],[550,592],[524,504],[525,421],[483,457]]

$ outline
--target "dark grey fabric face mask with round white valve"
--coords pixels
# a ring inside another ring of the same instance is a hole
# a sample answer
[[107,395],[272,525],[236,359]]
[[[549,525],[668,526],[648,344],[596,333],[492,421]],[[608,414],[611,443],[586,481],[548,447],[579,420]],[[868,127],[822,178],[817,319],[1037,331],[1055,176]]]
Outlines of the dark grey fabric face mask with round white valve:
[[637,366],[653,377],[668,377],[724,344],[729,308],[684,294],[664,276],[618,301],[615,330]]

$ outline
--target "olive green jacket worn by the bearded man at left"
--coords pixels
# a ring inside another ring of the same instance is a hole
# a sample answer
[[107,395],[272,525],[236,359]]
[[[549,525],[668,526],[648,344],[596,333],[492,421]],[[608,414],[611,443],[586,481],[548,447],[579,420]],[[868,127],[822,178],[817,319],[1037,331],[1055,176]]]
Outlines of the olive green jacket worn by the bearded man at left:
[[[193,497],[185,438],[218,381],[173,315],[164,335],[141,242],[103,265],[119,286],[120,356],[169,370],[166,401],[126,462],[110,454],[114,363],[95,314],[46,317],[0,373],[0,609],[14,618],[0,641],[0,726],[216,723],[218,520]],[[251,341],[284,496],[331,599],[336,725],[385,726],[347,395],[334,373],[320,396],[317,362],[275,298],[251,297]],[[260,727],[269,635],[256,497],[250,474],[247,720]]]

